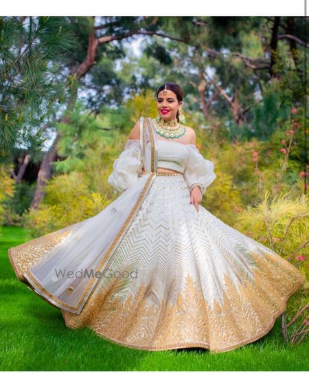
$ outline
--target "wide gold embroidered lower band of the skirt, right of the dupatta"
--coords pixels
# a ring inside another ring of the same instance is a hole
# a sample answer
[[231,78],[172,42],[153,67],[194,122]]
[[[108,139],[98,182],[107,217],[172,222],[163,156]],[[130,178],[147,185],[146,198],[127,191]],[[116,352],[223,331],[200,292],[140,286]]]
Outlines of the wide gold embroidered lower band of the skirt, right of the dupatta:
[[[304,284],[299,270],[277,254],[251,252],[257,261],[253,281],[243,278],[236,287],[225,275],[222,303],[207,302],[201,284],[187,274],[176,301],[150,298],[151,284],[136,296],[115,296],[117,284],[93,292],[80,315],[62,311],[71,329],[89,327],[102,338],[122,346],[148,351],[202,347],[225,352],[254,342],[270,331],[286,309],[288,298]],[[278,259],[279,257],[279,259]]]

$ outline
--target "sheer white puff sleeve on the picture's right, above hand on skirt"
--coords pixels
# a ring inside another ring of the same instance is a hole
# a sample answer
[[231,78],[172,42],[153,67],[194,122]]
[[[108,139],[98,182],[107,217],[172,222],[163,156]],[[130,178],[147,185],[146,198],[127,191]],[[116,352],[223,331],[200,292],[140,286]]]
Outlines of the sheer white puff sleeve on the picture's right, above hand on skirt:
[[189,156],[185,164],[183,176],[190,191],[194,186],[200,186],[202,195],[204,195],[206,188],[216,179],[214,163],[204,159],[194,144],[187,144],[187,147],[189,149]]

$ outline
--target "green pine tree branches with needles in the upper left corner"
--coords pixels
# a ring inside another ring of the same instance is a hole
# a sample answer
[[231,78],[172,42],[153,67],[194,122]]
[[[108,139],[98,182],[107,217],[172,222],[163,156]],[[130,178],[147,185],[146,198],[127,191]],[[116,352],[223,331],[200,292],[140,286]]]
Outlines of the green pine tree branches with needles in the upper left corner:
[[39,162],[44,129],[71,92],[62,58],[75,46],[65,17],[0,18],[0,162],[20,148]]

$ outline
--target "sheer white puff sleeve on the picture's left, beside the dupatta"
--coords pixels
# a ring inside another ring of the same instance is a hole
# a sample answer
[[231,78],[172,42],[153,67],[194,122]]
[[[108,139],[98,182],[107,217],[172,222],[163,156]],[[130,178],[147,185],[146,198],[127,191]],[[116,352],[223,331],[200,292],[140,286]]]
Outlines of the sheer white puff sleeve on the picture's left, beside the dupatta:
[[113,172],[107,182],[117,191],[124,192],[141,174],[143,161],[139,140],[127,140],[124,151],[113,162]]

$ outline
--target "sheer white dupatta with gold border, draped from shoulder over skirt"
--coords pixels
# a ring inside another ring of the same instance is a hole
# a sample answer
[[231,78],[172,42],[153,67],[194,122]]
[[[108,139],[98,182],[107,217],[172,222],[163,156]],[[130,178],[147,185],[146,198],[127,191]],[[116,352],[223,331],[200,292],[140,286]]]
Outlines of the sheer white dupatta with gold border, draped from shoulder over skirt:
[[140,122],[141,155],[148,174],[94,217],[9,250],[17,278],[60,309],[80,314],[155,180],[155,129],[150,118],[141,117]]

